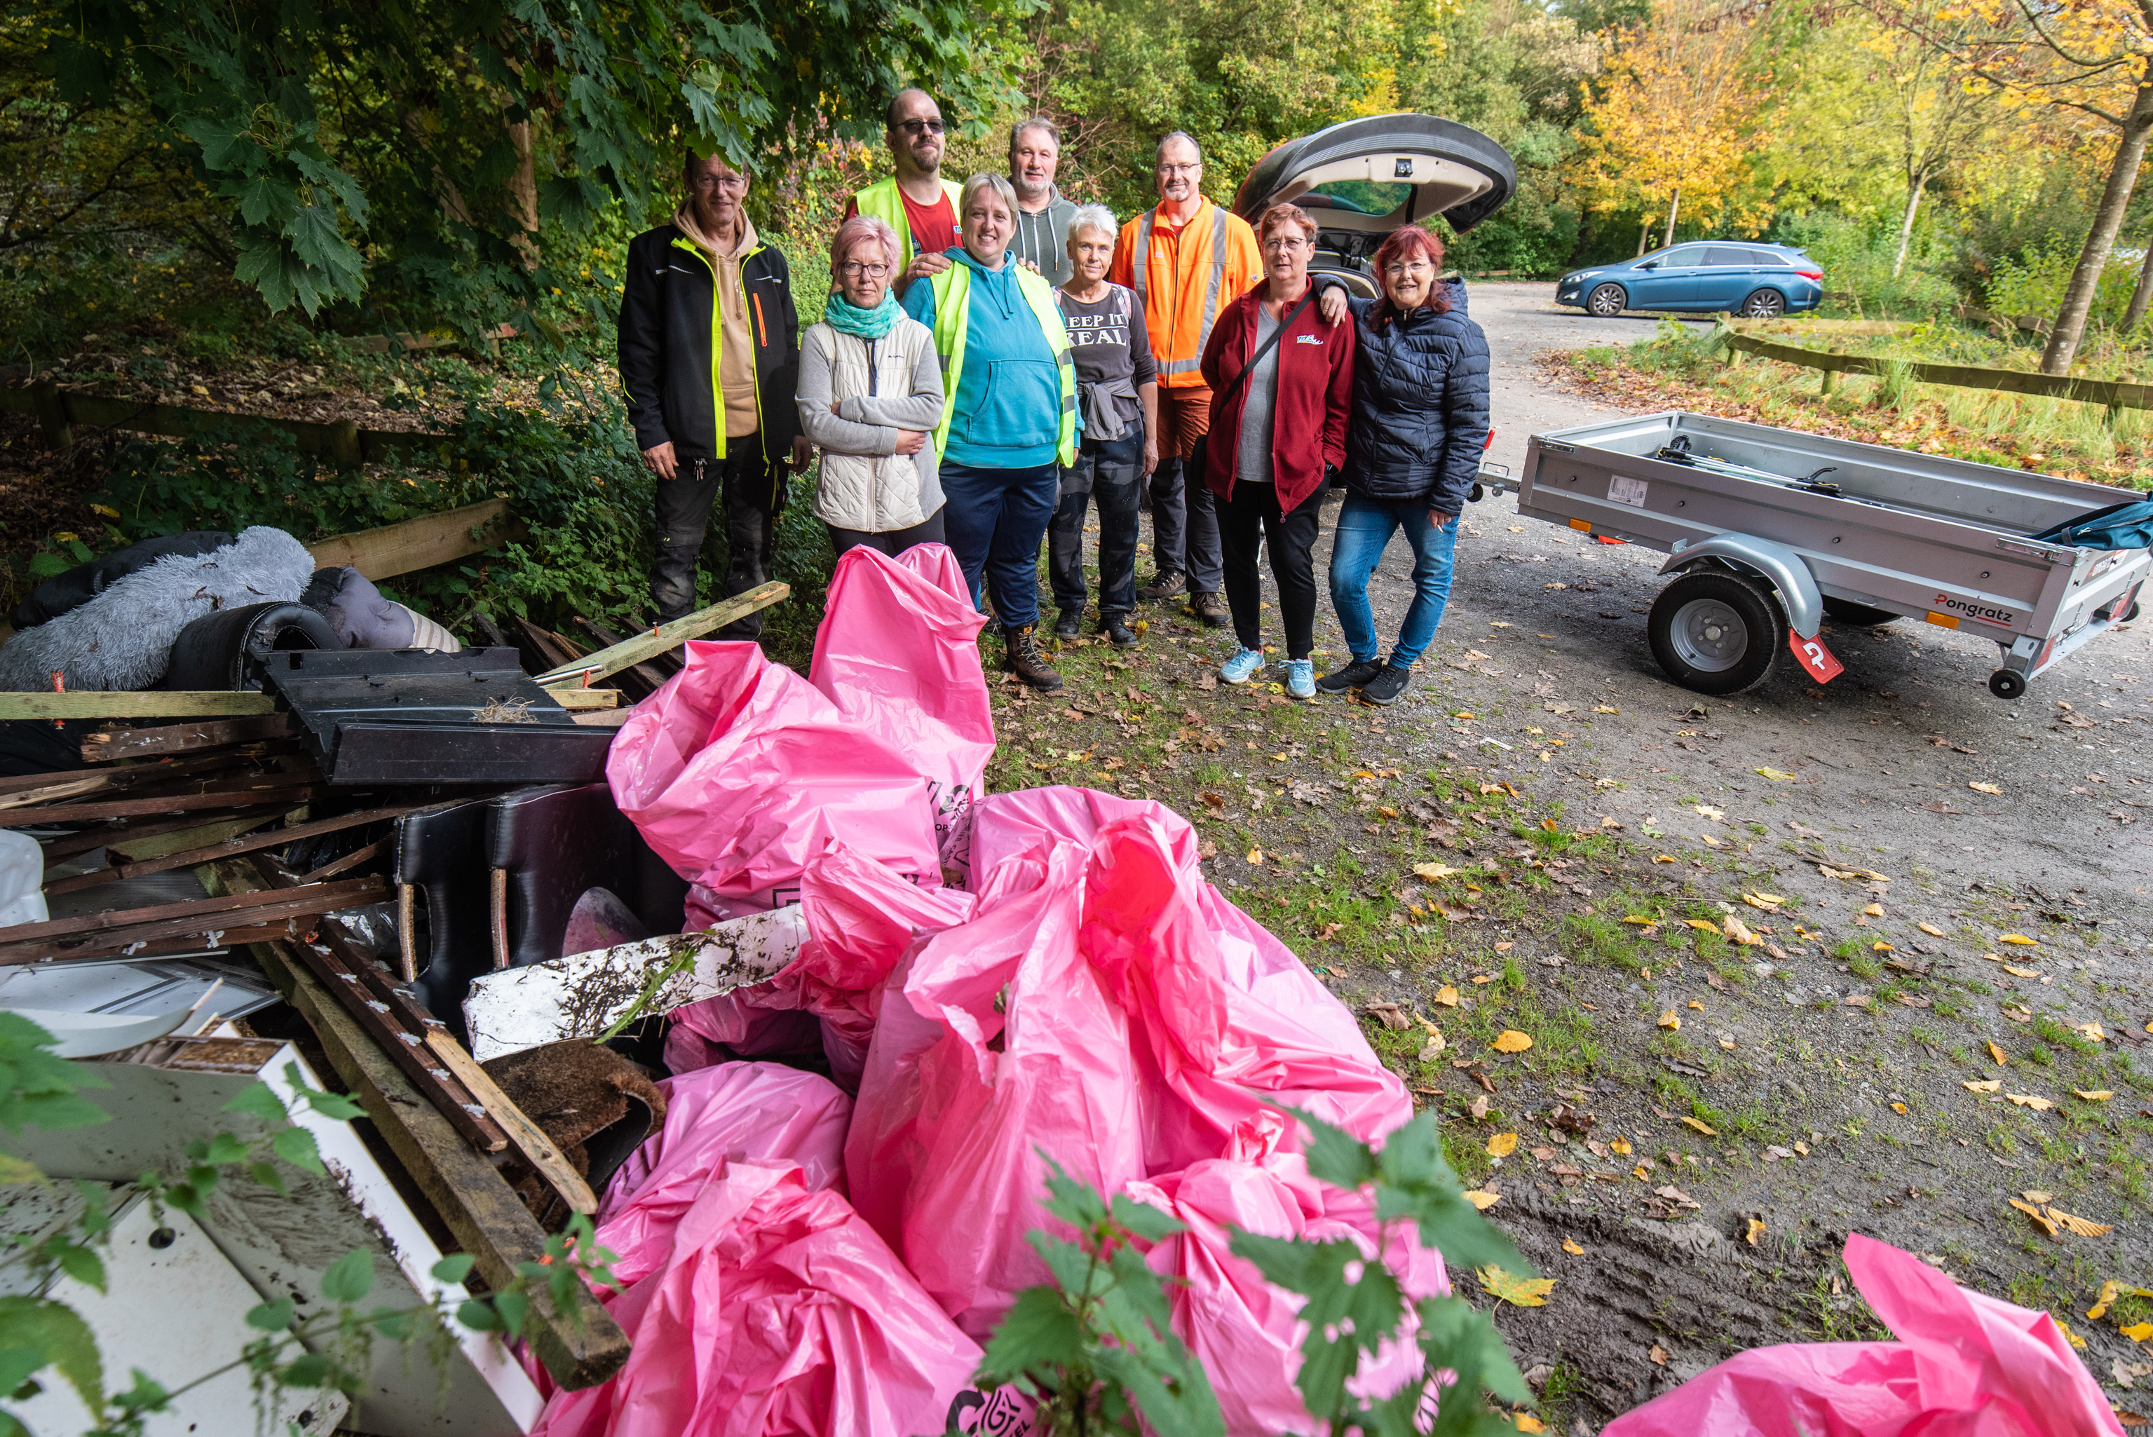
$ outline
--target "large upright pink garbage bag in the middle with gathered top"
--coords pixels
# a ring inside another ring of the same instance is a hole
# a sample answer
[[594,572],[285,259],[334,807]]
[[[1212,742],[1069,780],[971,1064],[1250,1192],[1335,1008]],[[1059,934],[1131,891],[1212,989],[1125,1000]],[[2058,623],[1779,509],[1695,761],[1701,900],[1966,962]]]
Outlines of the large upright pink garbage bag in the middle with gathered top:
[[1076,951],[1083,865],[1036,852],[1031,886],[898,962],[844,1144],[861,1218],[971,1336],[1046,1280],[1038,1149],[1100,1192],[1145,1175],[1128,1020]]

